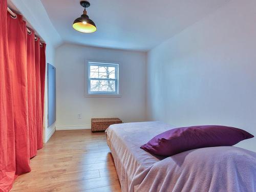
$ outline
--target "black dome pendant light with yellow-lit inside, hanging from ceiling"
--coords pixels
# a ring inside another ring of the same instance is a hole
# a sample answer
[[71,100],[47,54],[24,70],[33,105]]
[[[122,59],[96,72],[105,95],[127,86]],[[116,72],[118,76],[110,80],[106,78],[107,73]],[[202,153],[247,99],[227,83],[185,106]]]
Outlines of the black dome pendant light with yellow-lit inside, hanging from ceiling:
[[97,30],[94,22],[87,15],[86,8],[90,7],[88,1],[81,1],[80,5],[84,7],[83,14],[74,20],[73,28],[82,33],[93,33]]

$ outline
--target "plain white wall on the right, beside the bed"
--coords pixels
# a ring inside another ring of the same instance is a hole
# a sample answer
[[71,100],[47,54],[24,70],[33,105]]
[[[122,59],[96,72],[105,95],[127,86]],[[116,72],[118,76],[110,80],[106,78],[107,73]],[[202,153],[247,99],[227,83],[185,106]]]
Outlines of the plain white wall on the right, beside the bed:
[[[256,2],[233,0],[147,55],[147,116],[256,136]],[[256,151],[256,138],[238,146]]]

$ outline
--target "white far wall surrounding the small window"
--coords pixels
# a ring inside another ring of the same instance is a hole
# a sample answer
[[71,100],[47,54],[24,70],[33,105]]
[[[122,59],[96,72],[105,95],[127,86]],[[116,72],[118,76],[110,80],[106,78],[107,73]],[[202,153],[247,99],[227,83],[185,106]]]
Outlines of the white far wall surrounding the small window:
[[[86,59],[120,62],[121,97],[84,97]],[[64,44],[56,49],[55,64],[57,130],[90,128],[91,118],[145,120],[146,53]]]

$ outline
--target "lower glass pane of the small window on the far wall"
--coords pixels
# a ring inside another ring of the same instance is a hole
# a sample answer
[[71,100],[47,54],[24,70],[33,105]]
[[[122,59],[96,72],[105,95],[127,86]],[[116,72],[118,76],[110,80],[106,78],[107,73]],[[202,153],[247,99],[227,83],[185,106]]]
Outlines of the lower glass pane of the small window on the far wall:
[[91,92],[115,92],[115,81],[91,80]]

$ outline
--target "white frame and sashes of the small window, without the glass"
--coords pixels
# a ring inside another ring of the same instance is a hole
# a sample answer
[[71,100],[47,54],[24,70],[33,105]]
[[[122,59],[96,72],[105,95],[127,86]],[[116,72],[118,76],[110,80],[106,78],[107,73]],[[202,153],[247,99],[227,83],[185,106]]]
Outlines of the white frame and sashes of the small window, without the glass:
[[[120,97],[120,79],[119,79],[119,70],[120,70],[120,63],[118,62],[102,62],[102,61],[87,61],[87,75],[86,75],[86,82],[87,82],[87,97]],[[103,79],[103,78],[91,78],[90,77],[90,66],[106,66],[106,67],[115,67],[115,79]],[[114,80],[115,81],[115,92],[92,92],[91,91],[91,80]]]

